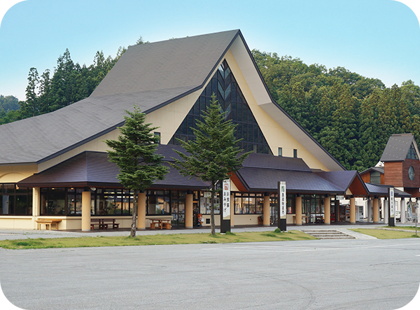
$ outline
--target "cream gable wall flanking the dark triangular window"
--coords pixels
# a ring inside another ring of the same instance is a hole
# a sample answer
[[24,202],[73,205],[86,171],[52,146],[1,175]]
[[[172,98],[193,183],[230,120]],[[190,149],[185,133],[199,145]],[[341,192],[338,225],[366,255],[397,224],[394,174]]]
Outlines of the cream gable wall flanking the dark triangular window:
[[[241,59],[241,68],[244,68],[246,71],[245,73],[239,68],[237,59],[235,59],[234,55]],[[311,169],[321,169],[323,171],[341,169],[341,167],[328,157],[325,151],[318,146],[314,148],[314,150],[311,149],[311,151],[302,146],[302,143],[299,141],[308,141],[309,138],[301,129],[298,128],[296,130],[296,125],[285,129],[284,126],[280,125],[283,124],[281,120],[274,120],[273,115],[281,115],[281,117],[283,117],[283,113],[274,106],[269,98],[269,95],[265,91],[260,77],[255,71],[253,62],[249,58],[248,52],[244,47],[244,43],[241,41],[241,38],[238,37],[235,40],[232,48],[226,53],[225,59],[228,62],[230,69],[232,70],[232,73],[234,74],[239,87],[241,88],[253,115],[255,116],[255,120],[257,120],[258,125],[260,126],[260,129],[274,155],[278,155],[279,148],[282,148],[283,156],[293,157],[293,150],[296,149],[297,157],[302,158]],[[214,73],[216,73],[218,66],[221,65],[223,60],[224,59],[221,59],[221,62],[216,66],[214,72],[209,75],[209,80],[206,81],[202,89],[188,94],[186,97],[178,99],[171,104],[167,104],[166,106],[163,106],[162,108],[152,111],[146,115],[146,122],[151,123],[154,127],[159,127],[155,131],[160,132],[160,141],[162,144],[167,144],[169,140],[172,139],[172,136],[174,136],[176,130],[179,128],[184,118],[186,118],[190,109],[193,108],[195,101],[197,101],[198,97],[200,97],[200,94],[214,76]],[[244,65],[243,63],[245,62],[246,64]],[[244,74],[247,76],[247,79],[244,77]],[[251,89],[247,80],[253,83],[253,85],[251,85]],[[265,108],[265,105],[268,106],[268,108]],[[272,113],[267,113],[267,109],[272,109],[273,106],[274,110]],[[289,119],[287,119],[287,121],[290,122]],[[293,134],[290,134],[292,130]],[[115,129],[108,134],[104,134],[104,136],[100,136],[99,138],[89,141],[82,146],[78,146],[78,148],[74,148],[67,153],[53,158],[52,160],[38,164],[38,172],[55,166],[55,164],[68,160],[69,158],[86,150],[105,152],[108,148],[104,143],[104,140],[118,139],[119,134],[119,129]],[[302,139],[299,139],[298,141],[296,136],[300,136]],[[309,141],[309,144],[311,144],[312,147],[314,146],[313,141]],[[323,162],[328,163],[329,166],[321,162],[319,158],[323,158]],[[328,169],[328,167],[332,167],[332,169]]]

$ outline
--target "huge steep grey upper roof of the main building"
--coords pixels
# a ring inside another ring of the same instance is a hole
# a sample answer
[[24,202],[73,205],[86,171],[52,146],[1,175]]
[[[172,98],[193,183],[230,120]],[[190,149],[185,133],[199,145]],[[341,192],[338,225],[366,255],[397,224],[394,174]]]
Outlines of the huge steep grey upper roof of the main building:
[[345,168],[272,99],[239,30],[134,45],[90,97],[58,111],[0,126],[0,164],[39,164],[144,113],[200,90],[231,48],[258,105],[330,170]]

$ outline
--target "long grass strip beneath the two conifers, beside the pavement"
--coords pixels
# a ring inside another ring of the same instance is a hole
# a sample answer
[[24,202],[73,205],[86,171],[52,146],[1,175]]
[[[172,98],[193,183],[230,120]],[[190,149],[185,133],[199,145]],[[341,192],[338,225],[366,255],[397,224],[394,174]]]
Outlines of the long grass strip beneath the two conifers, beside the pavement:
[[236,234],[155,234],[131,237],[38,238],[0,241],[0,248],[81,248],[90,246],[149,246],[157,244],[226,244],[237,242],[316,239],[298,230],[290,232],[239,232]]

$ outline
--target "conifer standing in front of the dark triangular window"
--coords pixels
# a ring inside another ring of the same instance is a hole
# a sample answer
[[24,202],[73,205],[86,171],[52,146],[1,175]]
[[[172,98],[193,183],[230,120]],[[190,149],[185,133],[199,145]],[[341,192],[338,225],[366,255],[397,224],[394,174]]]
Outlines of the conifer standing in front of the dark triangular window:
[[211,234],[216,234],[214,227],[214,197],[216,183],[230,178],[230,174],[240,169],[242,162],[252,152],[241,153],[237,147],[240,140],[235,139],[237,125],[232,120],[225,120],[216,95],[211,96],[210,105],[202,115],[202,121],[196,120],[193,129],[195,141],[178,139],[187,153],[176,150],[181,160],[174,159],[173,167],[183,176],[200,178],[211,184]]

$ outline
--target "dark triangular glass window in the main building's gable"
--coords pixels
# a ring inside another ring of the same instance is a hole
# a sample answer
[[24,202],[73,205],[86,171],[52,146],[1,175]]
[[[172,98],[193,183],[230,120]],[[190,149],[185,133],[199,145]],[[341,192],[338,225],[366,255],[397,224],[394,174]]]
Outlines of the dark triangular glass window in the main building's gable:
[[226,119],[237,124],[236,138],[242,139],[239,148],[253,150],[254,153],[272,154],[272,150],[270,150],[226,60],[218,67],[213,78],[200,94],[169,143],[179,144],[176,138],[183,141],[195,139],[191,128],[196,128],[195,119],[202,120],[200,115],[209,106],[212,94],[216,94],[216,99],[226,113]]

